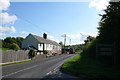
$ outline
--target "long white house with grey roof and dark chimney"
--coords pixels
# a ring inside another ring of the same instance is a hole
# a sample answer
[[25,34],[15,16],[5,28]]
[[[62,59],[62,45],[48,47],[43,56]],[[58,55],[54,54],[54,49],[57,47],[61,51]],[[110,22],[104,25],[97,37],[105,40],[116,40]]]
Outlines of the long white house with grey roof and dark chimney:
[[47,39],[47,34],[44,33],[43,37],[36,36],[33,34],[29,34],[23,41],[22,41],[22,48],[28,49],[32,47],[39,52],[43,52],[47,50],[51,53],[60,53],[61,46],[55,41]]

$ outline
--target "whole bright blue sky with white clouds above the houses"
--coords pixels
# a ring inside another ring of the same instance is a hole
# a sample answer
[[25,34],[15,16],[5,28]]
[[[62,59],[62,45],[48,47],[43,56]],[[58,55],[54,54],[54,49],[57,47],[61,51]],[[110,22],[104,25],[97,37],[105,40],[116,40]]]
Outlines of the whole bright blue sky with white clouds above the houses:
[[98,14],[104,13],[109,0],[70,1],[0,0],[1,39],[47,33],[49,39],[63,42],[66,34],[66,45],[74,45],[88,35],[97,36]]

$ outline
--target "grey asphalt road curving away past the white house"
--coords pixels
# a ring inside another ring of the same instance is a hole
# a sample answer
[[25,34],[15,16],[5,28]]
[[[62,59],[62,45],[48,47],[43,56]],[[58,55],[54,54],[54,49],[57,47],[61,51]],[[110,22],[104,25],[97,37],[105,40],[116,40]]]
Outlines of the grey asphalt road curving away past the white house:
[[59,71],[59,67],[75,54],[66,54],[2,67],[2,78],[75,78]]

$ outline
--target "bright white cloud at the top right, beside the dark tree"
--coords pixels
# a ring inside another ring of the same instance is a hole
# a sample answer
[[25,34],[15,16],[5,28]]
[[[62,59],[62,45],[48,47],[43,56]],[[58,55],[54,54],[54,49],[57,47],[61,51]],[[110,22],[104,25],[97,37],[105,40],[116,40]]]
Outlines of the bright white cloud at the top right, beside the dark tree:
[[91,0],[89,8],[95,7],[97,11],[101,11],[107,8],[109,5],[109,0]]

